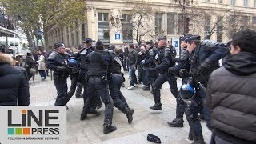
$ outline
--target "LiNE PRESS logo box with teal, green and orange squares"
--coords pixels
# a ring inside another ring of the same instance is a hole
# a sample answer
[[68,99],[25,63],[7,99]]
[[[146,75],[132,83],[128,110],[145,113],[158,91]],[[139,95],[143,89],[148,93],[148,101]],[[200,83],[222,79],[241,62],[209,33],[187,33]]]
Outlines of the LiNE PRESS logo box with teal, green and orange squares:
[[1,106],[0,143],[66,143],[65,106]]

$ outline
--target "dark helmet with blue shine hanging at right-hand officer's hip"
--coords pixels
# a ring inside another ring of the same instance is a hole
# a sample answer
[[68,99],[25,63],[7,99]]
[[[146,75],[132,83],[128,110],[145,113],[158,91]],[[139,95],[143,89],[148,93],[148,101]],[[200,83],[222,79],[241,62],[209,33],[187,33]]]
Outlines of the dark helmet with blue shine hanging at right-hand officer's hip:
[[198,106],[202,100],[196,94],[196,88],[191,83],[183,84],[180,90],[181,98],[188,106]]

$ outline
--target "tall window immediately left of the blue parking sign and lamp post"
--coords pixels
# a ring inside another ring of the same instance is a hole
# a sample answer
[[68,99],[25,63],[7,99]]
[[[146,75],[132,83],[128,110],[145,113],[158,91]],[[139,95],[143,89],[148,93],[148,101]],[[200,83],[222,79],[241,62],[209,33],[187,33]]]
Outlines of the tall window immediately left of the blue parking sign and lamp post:
[[102,42],[110,42],[110,30],[109,30],[109,14],[98,13],[98,38]]

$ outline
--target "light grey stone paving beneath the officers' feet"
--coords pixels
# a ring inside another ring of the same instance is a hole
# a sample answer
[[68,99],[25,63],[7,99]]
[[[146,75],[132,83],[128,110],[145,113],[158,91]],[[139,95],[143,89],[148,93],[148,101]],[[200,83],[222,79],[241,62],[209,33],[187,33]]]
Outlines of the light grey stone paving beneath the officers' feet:
[[[149,106],[154,104],[153,95],[142,88],[127,90],[129,82],[130,80],[126,78],[126,87],[122,88],[122,93],[129,106],[134,108],[134,121],[130,125],[126,115],[114,108],[113,125],[118,129],[113,133],[103,134],[104,106],[99,110],[100,116],[90,116],[85,121],[80,121],[83,101],[73,97],[68,103],[70,109],[67,110],[67,143],[150,144],[152,142],[146,140],[146,135],[149,133],[158,135],[162,143],[166,144],[190,143],[186,140],[189,131],[187,122],[183,128],[172,128],[166,124],[167,121],[175,118],[176,110],[176,101],[170,93],[168,83],[165,83],[161,90],[162,110],[150,110]],[[70,86],[70,80],[68,85]],[[50,81],[50,77],[47,77],[46,81],[41,81],[37,75],[34,82],[30,81],[30,94],[31,105],[54,105],[56,90],[53,81]],[[206,143],[209,143],[210,130],[206,128],[205,122],[202,122],[202,127]]]

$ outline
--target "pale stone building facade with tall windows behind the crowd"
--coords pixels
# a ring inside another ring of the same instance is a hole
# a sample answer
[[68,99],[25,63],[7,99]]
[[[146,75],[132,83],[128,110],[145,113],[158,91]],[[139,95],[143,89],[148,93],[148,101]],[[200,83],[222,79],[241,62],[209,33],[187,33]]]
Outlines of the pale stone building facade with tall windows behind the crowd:
[[54,26],[49,32],[49,43],[78,46],[85,38],[101,39],[106,44],[137,43],[155,41],[159,35],[171,40],[179,38],[184,30],[228,42],[234,32],[256,26],[256,0],[182,2],[86,0],[86,22],[76,22],[74,29]]

